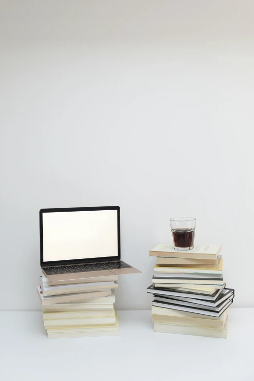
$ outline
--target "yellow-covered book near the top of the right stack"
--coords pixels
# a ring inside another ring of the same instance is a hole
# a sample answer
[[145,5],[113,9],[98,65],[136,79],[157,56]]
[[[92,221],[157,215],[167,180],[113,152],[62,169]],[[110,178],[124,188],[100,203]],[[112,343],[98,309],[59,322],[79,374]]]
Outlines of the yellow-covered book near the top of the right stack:
[[205,265],[205,264],[199,264],[199,265],[184,265],[179,267],[179,265],[171,265],[171,266],[165,266],[165,265],[155,265],[154,266],[154,273],[155,272],[184,272],[184,273],[201,273],[201,274],[222,274],[222,265],[223,265],[223,259],[221,259],[220,263],[218,265]]

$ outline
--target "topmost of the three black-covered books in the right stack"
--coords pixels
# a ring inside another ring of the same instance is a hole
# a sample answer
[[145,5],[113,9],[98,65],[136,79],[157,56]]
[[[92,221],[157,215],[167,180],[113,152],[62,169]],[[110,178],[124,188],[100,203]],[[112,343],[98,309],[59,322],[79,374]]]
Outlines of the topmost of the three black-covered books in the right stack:
[[182,296],[184,298],[193,298],[201,300],[215,301],[223,289],[216,290],[213,294],[207,295],[202,292],[183,291],[177,289],[169,289],[168,287],[155,287],[153,285],[147,288],[147,292],[154,295]]

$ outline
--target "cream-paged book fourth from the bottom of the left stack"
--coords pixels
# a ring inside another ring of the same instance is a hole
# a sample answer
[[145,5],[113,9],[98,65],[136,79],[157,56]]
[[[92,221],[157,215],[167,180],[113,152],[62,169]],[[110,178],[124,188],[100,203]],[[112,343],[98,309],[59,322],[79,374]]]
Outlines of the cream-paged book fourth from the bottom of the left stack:
[[41,306],[42,312],[103,311],[114,308],[113,303],[59,303]]

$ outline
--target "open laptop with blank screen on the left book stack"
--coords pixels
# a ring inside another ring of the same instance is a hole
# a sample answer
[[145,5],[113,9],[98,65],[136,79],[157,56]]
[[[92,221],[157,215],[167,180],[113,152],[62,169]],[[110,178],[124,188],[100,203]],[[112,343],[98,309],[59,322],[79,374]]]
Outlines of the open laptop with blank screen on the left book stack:
[[120,207],[41,209],[40,265],[52,282],[136,274],[121,260]]

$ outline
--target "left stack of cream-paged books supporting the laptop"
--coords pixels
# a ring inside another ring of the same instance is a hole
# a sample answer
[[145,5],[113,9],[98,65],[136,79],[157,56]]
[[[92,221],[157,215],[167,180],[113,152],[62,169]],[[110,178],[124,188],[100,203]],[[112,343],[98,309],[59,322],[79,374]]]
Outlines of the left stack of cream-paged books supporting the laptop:
[[42,274],[37,288],[48,338],[116,336],[117,276],[51,282]]

